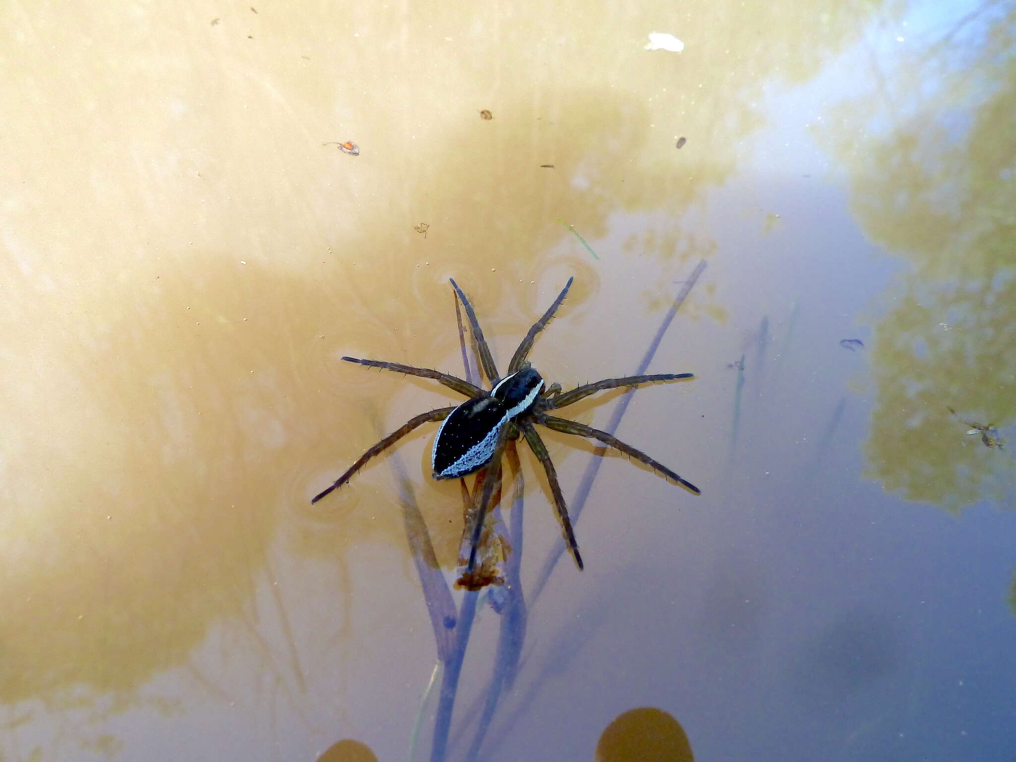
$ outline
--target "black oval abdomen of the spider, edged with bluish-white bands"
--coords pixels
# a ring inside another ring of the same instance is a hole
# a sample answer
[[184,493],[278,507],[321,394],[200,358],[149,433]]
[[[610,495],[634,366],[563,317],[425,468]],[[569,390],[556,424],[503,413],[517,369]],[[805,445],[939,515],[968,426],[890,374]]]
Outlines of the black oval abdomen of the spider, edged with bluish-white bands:
[[434,479],[457,479],[480,470],[494,456],[509,407],[495,397],[467,399],[449,414],[434,438]]

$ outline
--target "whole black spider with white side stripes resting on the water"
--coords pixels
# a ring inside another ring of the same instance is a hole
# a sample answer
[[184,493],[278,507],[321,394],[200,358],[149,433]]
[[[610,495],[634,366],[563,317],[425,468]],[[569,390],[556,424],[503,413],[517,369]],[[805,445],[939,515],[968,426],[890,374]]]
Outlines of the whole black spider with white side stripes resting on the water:
[[554,304],[532,325],[529,332],[526,333],[525,338],[522,339],[522,342],[512,356],[511,362],[508,364],[507,374],[503,377],[498,373],[497,366],[494,364],[494,358],[487,344],[487,339],[484,337],[484,331],[477,321],[477,314],[472,309],[472,305],[469,304],[469,301],[462,293],[462,290],[458,288],[458,284],[454,280],[451,281],[469,319],[469,325],[472,328],[477,344],[477,352],[480,356],[480,365],[483,368],[484,375],[491,382],[490,391],[474,386],[456,376],[431,370],[430,368],[415,368],[399,363],[386,363],[380,360],[360,360],[359,358],[343,357],[342,360],[346,362],[366,365],[369,368],[382,368],[409,376],[434,379],[449,389],[453,389],[468,397],[468,399],[458,406],[439,407],[409,419],[405,424],[361,455],[360,459],[350,466],[345,473],[339,477],[331,487],[317,495],[311,502],[316,503],[332,492],[332,490],[344,485],[368,460],[384,452],[418,427],[431,422],[443,422],[434,439],[434,449],[431,456],[431,465],[435,479],[465,477],[490,463],[486,474],[483,475],[480,499],[475,503],[477,510],[472,516],[472,525],[466,528],[468,534],[464,535],[471,536],[469,560],[466,572],[459,580],[463,586],[469,589],[478,589],[490,583],[490,580],[485,580],[482,576],[474,575],[477,548],[480,544],[484,527],[485,514],[490,508],[495,486],[500,482],[501,459],[504,455],[506,444],[509,440],[518,439],[520,436],[525,439],[547,472],[547,481],[551,488],[554,507],[561,522],[565,542],[568,544],[568,550],[571,552],[572,558],[575,559],[576,566],[582,569],[582,557],[579,555],[578,543],[575,541],[571,520],[568,518],[568,507],[565,503],[564,495],[561,493],[561,486],[558,484],[554,462],[551,460],[544,440],[536,432],[535,426],[537,424],[564,434],[574,434],[579,437],[598,440],[616,450],[620,450],[629,457],[645,463],[654,470],[663,473],[682,485],[690,492],[698,495],[699,489],[695,485],[682,479],[676,472],[649,457],[641,450],[625,444],[614,435],[593,429],[576,421],[569,421],[550,415],[551,410],[557,410],[573,404],[597,391],[620,387],[635,387],[642,384],[676,381],[678,379],[693,377],[691,373],[657,373],[646,376],[606,378],[602,381],[584,384],[566,392],[561,391],[560,384],[552,384],[549,388],[546,388],[545,393],[544,379],[526,361],[526,356],[532,348],[532,342],[536,334],[547,327],[551,318],[554,317],[554,313],[561,306],[565,296],[568,294],[568,290],[571,288],[573,279],[568,278],[568,282],[561,294],[558,295],[558,298],[554,300]]

